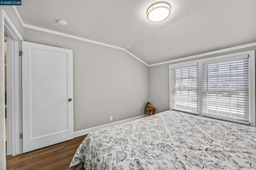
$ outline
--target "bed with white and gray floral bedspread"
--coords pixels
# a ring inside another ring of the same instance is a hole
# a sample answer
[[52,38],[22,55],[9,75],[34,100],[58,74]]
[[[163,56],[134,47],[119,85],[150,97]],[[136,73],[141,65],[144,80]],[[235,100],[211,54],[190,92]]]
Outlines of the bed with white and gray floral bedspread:
[[256,128],[164,111],[86,136],[71,170],[256,168]]

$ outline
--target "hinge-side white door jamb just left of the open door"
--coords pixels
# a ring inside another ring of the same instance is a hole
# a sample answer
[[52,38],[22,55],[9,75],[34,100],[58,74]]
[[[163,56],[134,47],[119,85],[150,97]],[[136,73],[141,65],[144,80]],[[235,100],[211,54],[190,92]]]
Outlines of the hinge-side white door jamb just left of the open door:
[[[22,89],[19,42],[9,37],[7,41],[7,150],[6,155],[22,153]],[[20,43],[21,46],[21,43]]]

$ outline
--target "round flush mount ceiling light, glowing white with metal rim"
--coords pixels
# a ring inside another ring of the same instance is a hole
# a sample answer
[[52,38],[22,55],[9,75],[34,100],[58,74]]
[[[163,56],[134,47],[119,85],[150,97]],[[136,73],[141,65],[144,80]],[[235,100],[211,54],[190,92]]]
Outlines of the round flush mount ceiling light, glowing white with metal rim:
[[147,10],[148,20],[152,22],[160,22],[170,16],[171,7],[166,2],[157,2],[151,5]]

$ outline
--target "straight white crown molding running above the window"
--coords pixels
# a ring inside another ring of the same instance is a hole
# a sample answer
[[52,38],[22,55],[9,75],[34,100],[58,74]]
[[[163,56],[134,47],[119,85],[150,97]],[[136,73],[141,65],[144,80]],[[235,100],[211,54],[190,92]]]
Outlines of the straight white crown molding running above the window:
[[256,42],[245,44],[245,45],[239,45],[239,46],[236,46],[236,47],[230,47],[230,48],[227,48],[227,49],[211,51],[211,52],[208,52],[208,53],[192,55],[192,56],[189,56],[189,57],[183,57],[181,59],[175,59],[175,60],[170,60],[170,61],[164,61],[164,62],[161,62],[161,63],[149,64],[148,66],[157,66],[157,65],[161,65],[161,64],[173,63],[173,62],[176,62],[176,61],[182,61],[182,60],[186,60],[186,59],[193,59],[193,58],[196,58],[196,57],[203,57],[203,56],[206,56],[206,55],[218,54],[218,53],[223,53],[223,52],[227,52],[227,51],[243,49],[243,48],[247,48],[247,47],[253,47],[253,46],[256,46]]

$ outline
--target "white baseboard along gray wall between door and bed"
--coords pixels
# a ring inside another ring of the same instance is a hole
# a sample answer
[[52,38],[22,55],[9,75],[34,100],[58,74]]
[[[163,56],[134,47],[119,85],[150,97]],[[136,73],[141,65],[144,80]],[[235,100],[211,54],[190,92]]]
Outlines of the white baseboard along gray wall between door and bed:
[[136,117],[132,117],[132,118],[129,118],[129,119],[124,119],[124,120],[120,120],[120,121],[116,121],[116,122],[113,122],[113,123],[108,123],[108,124],[105,124],[105,125],[100,125],[100,126],[96,126],[96,127],[91,127],[91,128],[88,128],[88,129],[84,129],[84,130],[81,130],[81,131],[76,131],[74,132],[74,137],[79,137],[79,136],[82,136],[82,135],[87,135],[93,131],[96,131],[100,128],[103,128],[103,127],[109,127],[109,126],[114,126],[114,125],[120,125],[122,123],[127,123],[129,121],[133,121],[133,120],[136,120],[136,119],[140,119],[142,117],[145,117],[146,115],[140,115],[140,116],[136,116]]

